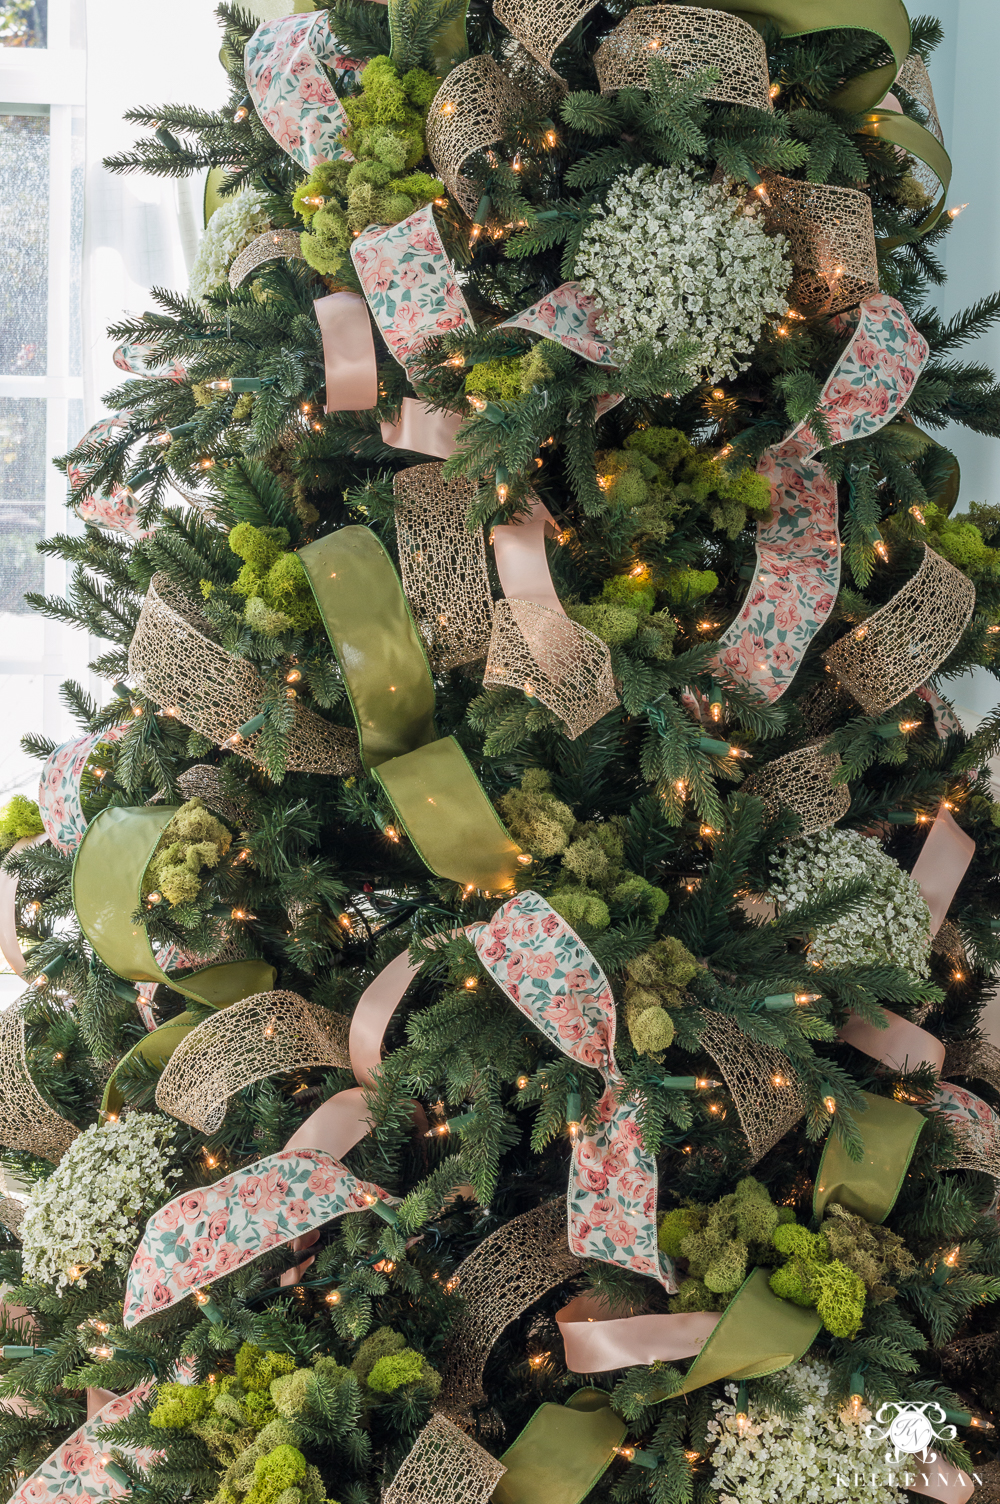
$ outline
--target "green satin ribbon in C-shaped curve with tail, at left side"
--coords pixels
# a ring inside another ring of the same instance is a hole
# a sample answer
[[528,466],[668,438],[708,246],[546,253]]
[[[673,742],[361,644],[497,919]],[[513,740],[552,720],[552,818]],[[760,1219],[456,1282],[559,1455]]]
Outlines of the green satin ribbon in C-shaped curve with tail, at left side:
[[143,877],[164,826],[176,806],[102,809],[77,847],[72,868],[72,902],[90,948],[129,982],[165,982],[176,993],[209,1008],[266,993],[274,967],[265,961],[229,961],[206,966],[183,981],[168,976],[156,961],[143,925],[132,923],[141,904]]

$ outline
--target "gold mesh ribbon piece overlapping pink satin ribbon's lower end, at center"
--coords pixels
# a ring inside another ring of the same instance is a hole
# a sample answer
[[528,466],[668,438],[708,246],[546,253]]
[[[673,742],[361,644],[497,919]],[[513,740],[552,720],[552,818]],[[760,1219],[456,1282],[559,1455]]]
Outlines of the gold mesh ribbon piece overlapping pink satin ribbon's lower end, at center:
[[534,600],[496,602],[483,683],[540,699],[565,723],[570,740],[618,704],[608,644]]

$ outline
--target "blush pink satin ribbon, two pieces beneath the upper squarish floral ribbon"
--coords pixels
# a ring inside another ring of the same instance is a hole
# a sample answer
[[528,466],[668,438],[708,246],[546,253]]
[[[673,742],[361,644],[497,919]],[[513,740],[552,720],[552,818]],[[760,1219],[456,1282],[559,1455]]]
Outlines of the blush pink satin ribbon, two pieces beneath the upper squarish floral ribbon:
[[[326,412],[367,412],[379,402],[379,368],[371,320],[364,298],[334,292],[313,304],[323,338]],[[395,423],[382,421],[382,442],[392,450],[433,454],[447,460],[456,450],[462,414],[436,412],[426,402],[403,397]]]

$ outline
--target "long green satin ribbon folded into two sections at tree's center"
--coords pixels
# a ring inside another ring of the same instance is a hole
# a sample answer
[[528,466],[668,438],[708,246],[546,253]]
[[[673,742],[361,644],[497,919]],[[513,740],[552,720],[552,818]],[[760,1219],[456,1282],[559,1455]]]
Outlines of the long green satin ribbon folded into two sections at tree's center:
[[486,890],[514,886],[510,839],[454,737],[435,732],[435,681],[392,559],[368,528],[299,549],[374,772],[421,860]]

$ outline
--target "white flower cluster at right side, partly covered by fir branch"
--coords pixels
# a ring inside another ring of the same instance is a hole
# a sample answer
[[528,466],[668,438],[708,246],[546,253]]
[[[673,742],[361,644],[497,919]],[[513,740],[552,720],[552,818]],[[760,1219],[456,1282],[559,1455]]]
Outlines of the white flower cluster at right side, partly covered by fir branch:
[[815,898],[824,887],[853,878],[872,887],[863,910],[821,925],[809,957],[821,966],[901,966],[911,976],[928,975],[931,914],[919,886],[877,841],[857,830],[823,830],[789,841],[777,863],[771,896],[788,908]]

